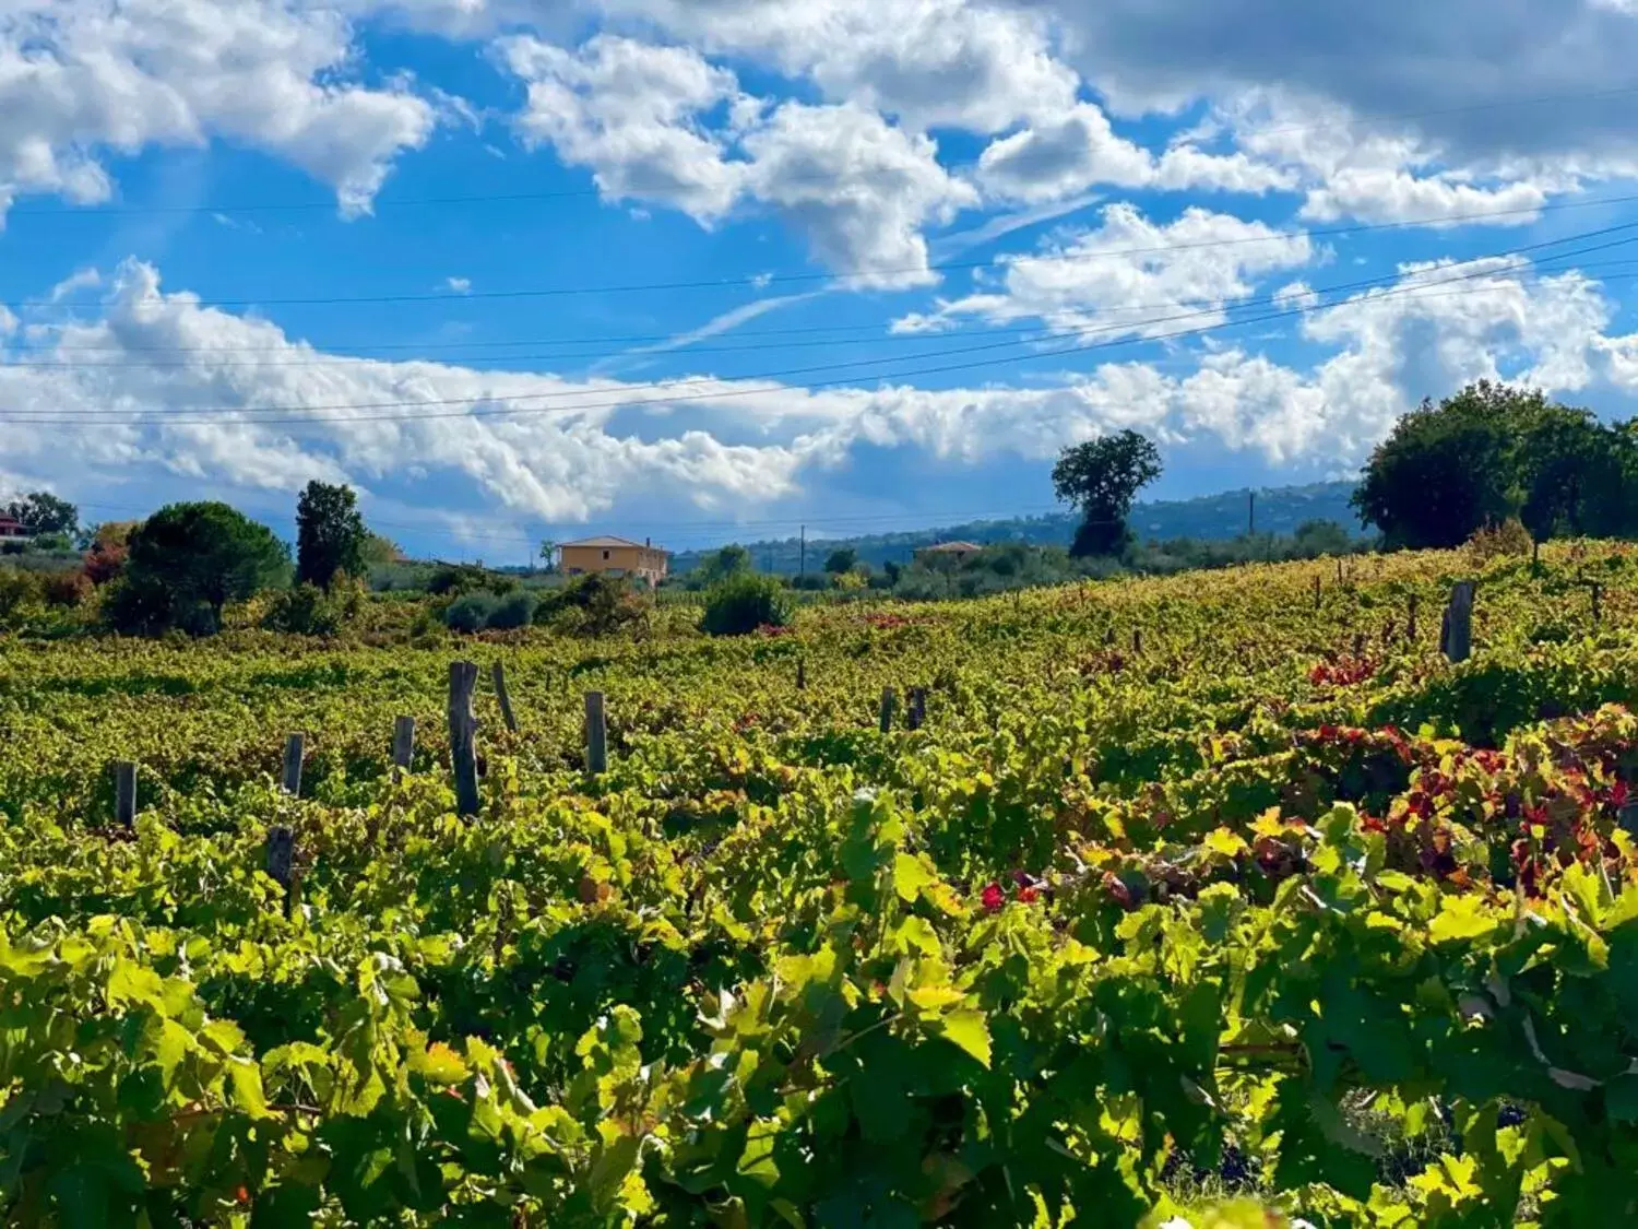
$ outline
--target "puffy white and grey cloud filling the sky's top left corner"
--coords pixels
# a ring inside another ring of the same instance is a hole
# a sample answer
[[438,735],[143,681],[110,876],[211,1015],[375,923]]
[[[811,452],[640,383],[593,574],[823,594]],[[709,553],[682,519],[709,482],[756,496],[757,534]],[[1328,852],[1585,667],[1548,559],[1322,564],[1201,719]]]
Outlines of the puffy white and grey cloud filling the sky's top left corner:
[[0,208],[100,202],[100,151],[241,141],[369,206],[436,113],[405,84],[346,82],[351,29],[296,0],[64,0],[0,20]]

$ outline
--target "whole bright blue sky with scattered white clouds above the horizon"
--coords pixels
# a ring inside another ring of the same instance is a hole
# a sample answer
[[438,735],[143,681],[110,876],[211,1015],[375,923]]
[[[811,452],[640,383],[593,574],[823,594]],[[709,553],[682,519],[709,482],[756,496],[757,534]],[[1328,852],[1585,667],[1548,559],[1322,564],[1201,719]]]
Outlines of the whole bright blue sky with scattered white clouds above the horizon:
[[0,0],[0,495],[416,554],[1638,413],[1638,0]]

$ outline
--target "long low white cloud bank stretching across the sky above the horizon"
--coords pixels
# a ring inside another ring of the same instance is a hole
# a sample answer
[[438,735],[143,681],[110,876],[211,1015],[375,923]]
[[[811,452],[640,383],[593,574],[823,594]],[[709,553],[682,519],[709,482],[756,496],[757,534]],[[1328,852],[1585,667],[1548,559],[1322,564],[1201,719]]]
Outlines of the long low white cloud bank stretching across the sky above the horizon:
[[[100,318],[51,326],[54,349],[0,361],[7,467],[70,493],[144,477],[293,492],[321,477],[411,506],[573,523],[634,501],[654,515],[798,498],[867,447],[980,470],[1135,426],[1276,465],[1346,465],[1420,397],[1477,377],[1638,393],[1638,338],[1605,333],[1613,308],[1586,275],[1532,277],[1499,261],[1451,288],[1443,270],[1409,267],[1396,287],[1310,315],[1312,367],[1202,344],[1183,374],[1130,361],[1035,387],[801,388],[331,356],[269,321],[165,293],[152,267],[129,262]],[[1301,283],[1284,292],[1304,295]],[[87,346],[111,361],[54,362]],[[496,413],[511,410],[526,413]]]

